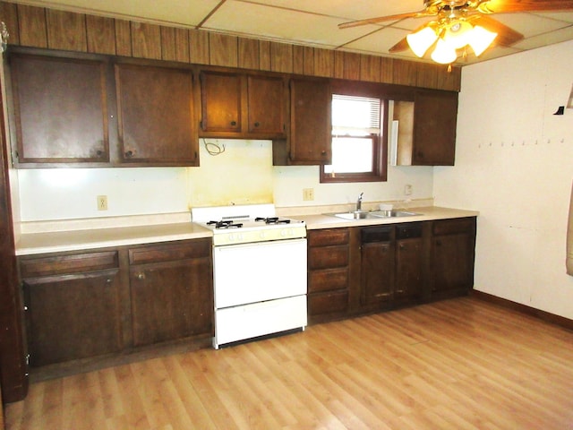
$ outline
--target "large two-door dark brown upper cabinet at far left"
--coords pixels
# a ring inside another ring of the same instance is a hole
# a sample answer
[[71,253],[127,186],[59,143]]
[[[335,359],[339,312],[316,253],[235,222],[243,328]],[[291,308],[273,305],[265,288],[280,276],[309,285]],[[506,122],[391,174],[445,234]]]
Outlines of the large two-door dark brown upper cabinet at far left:
[[199,166],[190,67],[109,56],[9,56],[18,168]]

